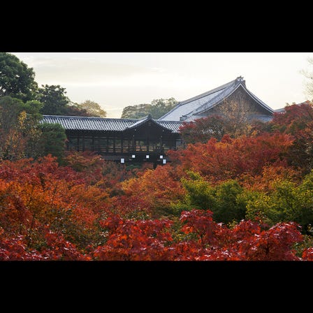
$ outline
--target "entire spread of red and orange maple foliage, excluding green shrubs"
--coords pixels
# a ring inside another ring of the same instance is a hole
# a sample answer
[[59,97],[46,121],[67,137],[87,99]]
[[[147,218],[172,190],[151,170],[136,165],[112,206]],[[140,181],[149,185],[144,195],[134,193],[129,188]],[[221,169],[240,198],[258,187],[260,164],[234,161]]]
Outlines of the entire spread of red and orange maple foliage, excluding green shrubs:
[[210,210],[164,218],[186,199],[180,180],[188,170],[262,192],[279,180],[300,180],[286,165],[292,143],[282,133],[224,136],[136,173],[87,154],[68,157],[68,166],[51,156],[2,161],[0,260],[312,260],[312,248],[301,257],[293,250],[303,236],[292,222],[269,228],[242,220],[230,228]]

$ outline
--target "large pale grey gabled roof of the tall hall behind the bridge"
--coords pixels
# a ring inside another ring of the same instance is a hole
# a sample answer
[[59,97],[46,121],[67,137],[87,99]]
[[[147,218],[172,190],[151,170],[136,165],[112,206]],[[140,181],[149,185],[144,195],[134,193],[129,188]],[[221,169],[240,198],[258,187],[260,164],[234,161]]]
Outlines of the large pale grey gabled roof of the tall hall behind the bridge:
[[267,110],[272,115],[274,112],[272,108],[270,108],[258,97],[252,94],[252,92],[250,92],[245,86],[245,80],[243,80],[243,78],[240,76],[225,85],[221,85],[210,90],[209,92],[199,94],[198,96],[194,96],[193,98],[185,101],[180,101],[175,106],[175,108],[160,117],[160,120],[188,121],[198,118],[203,112],[210,110],[215,105],[224,101],[224,99],[235,92],[235,90],[240,86],[245,89],[245,92],[247,92],[247,94],[249,94],[249,96],[251,96],[252,99],[256,101],[256,103],[259,103],[259,105],[265,108],[265,110]]

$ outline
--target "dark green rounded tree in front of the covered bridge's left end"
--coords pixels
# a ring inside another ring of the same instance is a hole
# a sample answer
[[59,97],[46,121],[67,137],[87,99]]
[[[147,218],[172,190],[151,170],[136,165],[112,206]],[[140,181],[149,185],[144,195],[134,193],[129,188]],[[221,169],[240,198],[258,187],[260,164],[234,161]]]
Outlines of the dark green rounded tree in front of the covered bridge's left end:
[[64,157],[66,133],[60,124],[40,124],[42,154],[52,154],[59,163]]

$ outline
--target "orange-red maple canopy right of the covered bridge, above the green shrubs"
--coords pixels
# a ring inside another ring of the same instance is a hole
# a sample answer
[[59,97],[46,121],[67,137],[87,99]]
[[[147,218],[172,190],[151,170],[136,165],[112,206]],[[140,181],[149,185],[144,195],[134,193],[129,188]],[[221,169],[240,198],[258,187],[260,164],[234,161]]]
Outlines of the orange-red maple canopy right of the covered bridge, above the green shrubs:
[[293,138],[282,133],[263,133],[256,137],[232,139],[225,135],[221,142],[188,145],[185,150],[170,151],[170,159],[179,161],[183,170],[201,173],[212,182],[235,179],[242,174],[260,175],[264,166],[286,167],[285,154]]

